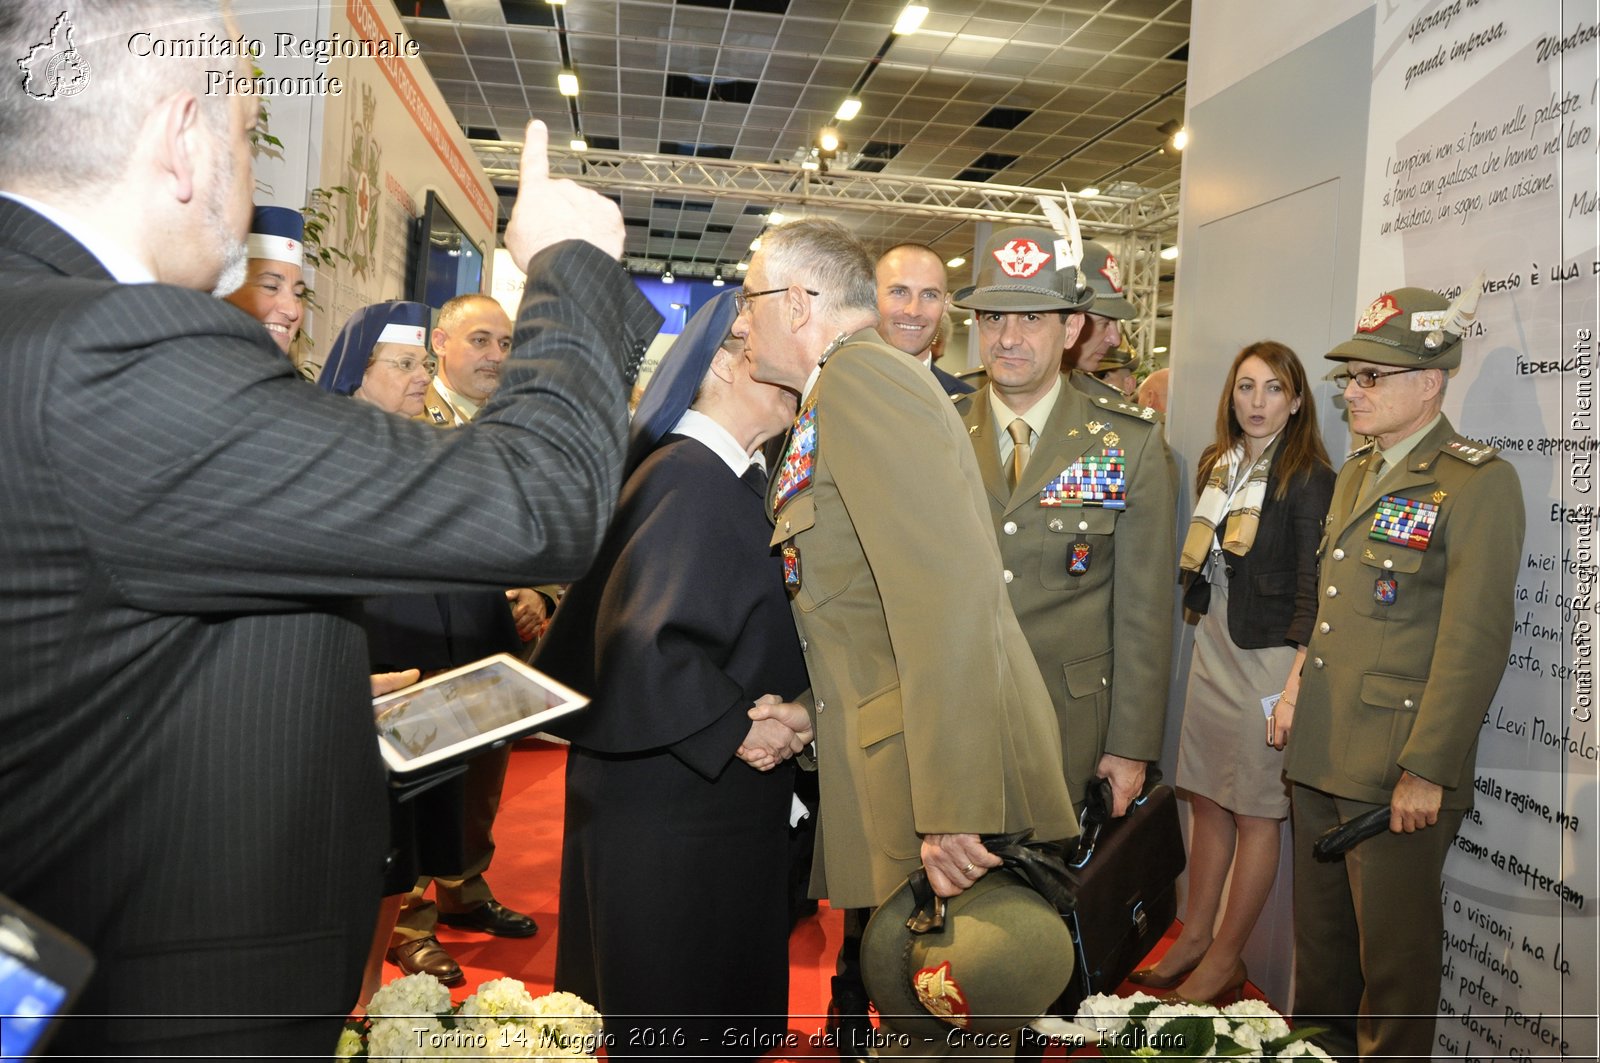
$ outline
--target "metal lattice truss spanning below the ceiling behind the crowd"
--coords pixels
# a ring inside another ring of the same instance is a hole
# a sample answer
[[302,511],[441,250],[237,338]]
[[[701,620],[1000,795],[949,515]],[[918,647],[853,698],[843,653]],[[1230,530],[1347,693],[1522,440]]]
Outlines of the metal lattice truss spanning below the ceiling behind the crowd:
[[[522,144],[472,141],[478,162],[498,184],[517,181]],[[749,163],[693,155],[637,155],[616,150],[573,152],[550,147],[550,176],[594,189],[698,194],[773,207],[840,211],[891,211],[915,218],[1040,224],[1037,189],[979,181],[899,178],[859,170],[808,170],[792,163]],[[1078,221],[1110,245],[1125,264],[1125,288],[1139,309],[1130,346],[1149,355],[1155,336],[1162,239],[1178,229],[1178,184],[1162,189],[1118,186],[1094,197],[1074,197]],[[640,264],[645,264],[643,261]],[[629,266],[634,266],[630,261]],[[680,269],[683,272],[693,272]],[[707,272],[709,275],[709,272]]]

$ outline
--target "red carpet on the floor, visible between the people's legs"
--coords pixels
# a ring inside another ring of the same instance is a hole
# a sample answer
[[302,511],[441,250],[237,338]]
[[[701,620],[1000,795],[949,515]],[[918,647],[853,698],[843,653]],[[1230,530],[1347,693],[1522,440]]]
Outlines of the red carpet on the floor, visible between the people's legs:
[[[501,903],[538,919],[539,933],[512,940],[440,927],[438,940],[467,973],[466,985],[454,991],[456,1001],[466,999],[480,983],[504,977],[526,983],[533,996],[550,991],[555,977],[565,764],[565,749],[542,741],[518,743],[512,752],[494,824],[496,852],[488,879]],[[1174,925],[1150,953],[1152,961],[1166,951],[1178,930]],[[827,1047],[811,1045],[810,1039],[824,1029],[829,978],[834,973],[840,932],[842,917],[822,905],[816,916],[802,921],[790,935],[789,1029],[800,1047],[774,1052],[768,1058],[832,1058]],[[394,964],[384,967],[386,981],[398,975]],[[670,977],[666,959],[662,975]],[[1123,985],[1120,993],[1131,994],[1136,989],[1138,986]],[[1248,988],[1246,996],[1264,999],[1254,986]],[[1050,1055],[1062,1052],[1053,1049]],[[1077,1055],[1093,1057],[1098,1052],[1085,1049]]]

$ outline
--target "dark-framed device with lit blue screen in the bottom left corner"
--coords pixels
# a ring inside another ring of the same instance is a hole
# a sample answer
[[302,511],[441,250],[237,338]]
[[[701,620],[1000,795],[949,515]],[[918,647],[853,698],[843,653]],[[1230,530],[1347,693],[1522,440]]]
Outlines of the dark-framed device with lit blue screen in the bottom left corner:
[[94,970],[94,957],[0,895],[0,1055],[38,1055]]

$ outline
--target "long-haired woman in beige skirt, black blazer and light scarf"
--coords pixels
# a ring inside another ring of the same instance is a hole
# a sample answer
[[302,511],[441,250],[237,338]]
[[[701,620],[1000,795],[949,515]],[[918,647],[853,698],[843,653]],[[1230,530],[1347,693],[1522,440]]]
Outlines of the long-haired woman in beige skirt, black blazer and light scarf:
[[[1317,541],[1333,467],[1293,351],[1238,352],[1200,456],[1184,541],[1184,605],[1202,613],[1184,698],[1178,784],[1194,804],[1184,930],[1131,981],[1189,1001],[1237,994],[1290,812],[1282,751],[1317,618]],[[1218,925],[1229,866],[1234,887]],[[1213,937],[1214,929],[1214,937]]]

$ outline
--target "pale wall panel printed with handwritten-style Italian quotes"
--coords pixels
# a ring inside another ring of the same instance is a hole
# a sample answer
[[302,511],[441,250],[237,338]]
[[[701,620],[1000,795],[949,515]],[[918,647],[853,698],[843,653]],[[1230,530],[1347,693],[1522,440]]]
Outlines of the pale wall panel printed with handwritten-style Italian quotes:
[[1597,1049],[1597,51],[1594,3],[1378,5],[1362,304],[1486,274],[1445,413],[1515,464],[1506,504],[1528,515],[1475,808],[1445,864],[1435,1052],[1456,1058]]

